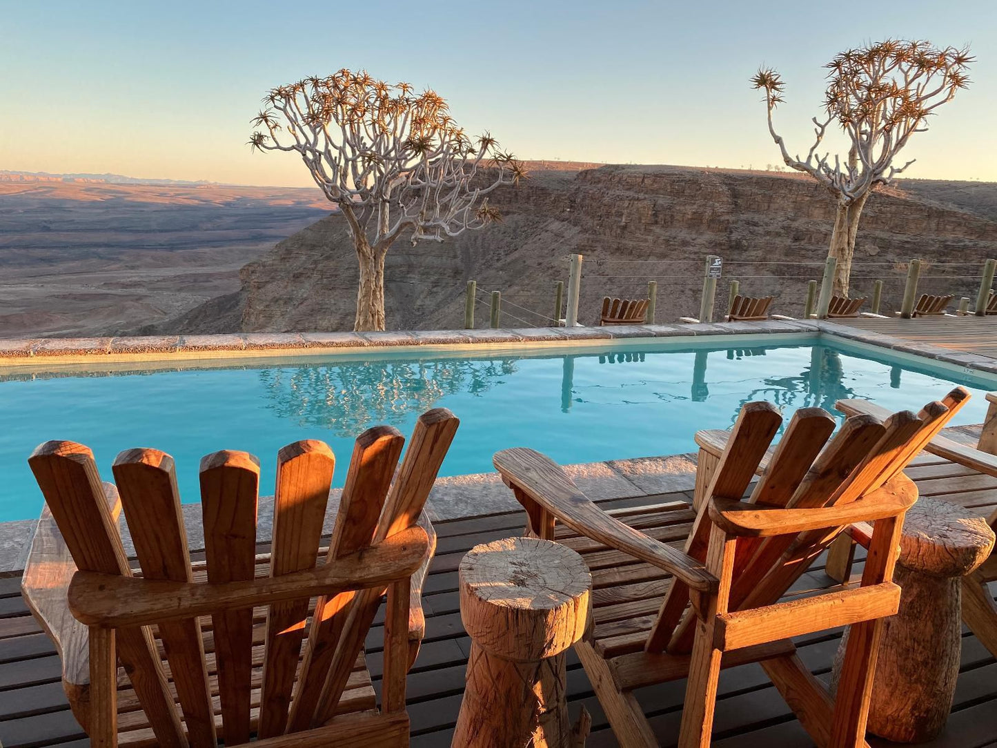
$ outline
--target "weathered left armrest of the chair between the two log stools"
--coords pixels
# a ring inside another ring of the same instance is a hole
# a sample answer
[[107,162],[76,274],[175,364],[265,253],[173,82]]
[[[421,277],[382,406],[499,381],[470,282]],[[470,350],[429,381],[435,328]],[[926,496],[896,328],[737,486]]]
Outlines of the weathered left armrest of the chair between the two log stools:
[[576,533],[668,571],[693,589],[716,588],[717,578],[700,561],[607,515],[549,458],[516,448],[496,453],[493,463],[506,485],[521,491]]

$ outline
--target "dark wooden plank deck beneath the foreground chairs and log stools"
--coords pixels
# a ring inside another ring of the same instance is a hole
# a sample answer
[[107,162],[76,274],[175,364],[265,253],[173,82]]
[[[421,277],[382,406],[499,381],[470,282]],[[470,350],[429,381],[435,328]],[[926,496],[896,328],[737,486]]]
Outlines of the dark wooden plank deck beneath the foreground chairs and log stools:
[[[962,321],[962,320],[960,320]],[[981,514],[997,506],[997,479],[970,475],[944,460],[921,456],[908,469],[922,496],[945,496]],[[668,501],[691,501],[689,493],[661,494],[602,503],[625,508]],[[412,745],[416,748],[450,746],[461,705],[464,670],[470,639],[461,625],[457,567],[464,554],[479,543],[517,535],[521,513],[475,517],[439,523],[439,548],[425,590],[427,639],[408,680]],[[595,552],[596,550],[593,550]],[[794,591],[823,588],[831,579],[823,560],[801,578]],[[858,570],[860,571],[860,562]],[[48,637],[28,613],[19,594],[19,579],[0,579],[0,743],[6,748],[89,745],[68,710],[60,683],[59,657]],[[994,590],[992,590],[994,591]],[[827,677],[840,630],[802,637],[804,661],[820,677]],[[382,630],[371,632],[368,663],[379,686]],[[673,745],[678,735],[685,681],[637,692],[651,717],[662,745]],[[573,655],[568,657],[568,696],[572,715],[584,703],[593,717],[589,748],[614,746],[592,689]],[[889,745],[870,740],[873,746]],[[749,748],[778,745],[810,746],[812,742],[759,665],[724,671],[716,715],[716,746]],[[955,705],[945,733],[924,744],[933,748],[997,746],[997,662],[964,631],[961,673]]]

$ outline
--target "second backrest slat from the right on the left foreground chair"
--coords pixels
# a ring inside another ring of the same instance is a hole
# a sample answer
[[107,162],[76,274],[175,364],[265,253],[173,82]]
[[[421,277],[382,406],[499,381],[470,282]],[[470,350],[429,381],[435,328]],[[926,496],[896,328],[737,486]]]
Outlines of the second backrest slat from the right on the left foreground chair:
[[[391,426],[376,426],[357,438],[326,562],[371,545],[404,444],[405,437]],[[314,725],[315,707],[356,594],[322,596],[315,606],[288,720],[292,731]]]

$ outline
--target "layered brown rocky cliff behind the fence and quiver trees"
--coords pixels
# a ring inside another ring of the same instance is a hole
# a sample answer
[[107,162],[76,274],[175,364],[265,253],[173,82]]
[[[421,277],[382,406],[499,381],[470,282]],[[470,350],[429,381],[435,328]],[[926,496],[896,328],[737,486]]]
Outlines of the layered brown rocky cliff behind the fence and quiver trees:
[[[949,187],[934,194],[931,184],[881,190],[868,201],[852,296],[871,295],[872,277],[881,277],[883,310],[898,308],[903,263],[917,257],[924,261],[919,291],[975,300],[980,268],[972,263],[997,256],[993,187],[939,183]],[[695,316],[704,258],[711,253],[724,257],[718,317],[732,279],[742,293],[775,295],[773,311],[799,316],[807,281],[820,280],[833,221],[830,195],[809,179],[678,167],[543,171],[491,201],[504,215],[498,224],[443,243],[413,247],[402,240],[391,249],[389,328],[462,327],[465,286],[472,279],[481,300],[477,326],[488,326],[492,290],[502,292],[502,326],[549,324],[553,283],[567,280],[574,252],[585,257],[583,323],[597,321],[602,296],[643,296],[651,279],[658,282],[657,321]],[[957,262],[967,264],[945,264]],[[192,324],[195,330],[181,331],[197,332],[227,332],[236,324],[242,331],[352,329],[357,265],[337,215],[281,241],[245,265],[240,278],[237,297],[208,302],[168,326]]]

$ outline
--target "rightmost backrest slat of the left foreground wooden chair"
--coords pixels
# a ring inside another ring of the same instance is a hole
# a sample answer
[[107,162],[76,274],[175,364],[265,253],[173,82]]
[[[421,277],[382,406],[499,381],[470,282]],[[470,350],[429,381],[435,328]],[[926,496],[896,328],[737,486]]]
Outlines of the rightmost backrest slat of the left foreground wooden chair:
[[[402,467],[381,513],[374,535],[375,543],[408,530],[418,522],[459,424],[460,421],[446,408],[435,408],[420,416],[412,432]],[[315,720],[318,723],[332,717],[336,704],[339,703],[353,662],[363,647],[364,638],[377,614],[382,592],[381,589],[362,590],[350,607],[316,707]],[[402,652],[395,652],[391,657],[386,653],[383,675],[386,688],[387,684],[397,682],[391,669],[400,662],[406,662],[405,657],[407,655]],[[401,684],[404,687],[404,680]],[[388,694],[382,694],[382,698],[387,700]],[[402,698],[402,703],[404,702],[405,699]]]

